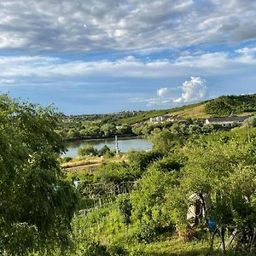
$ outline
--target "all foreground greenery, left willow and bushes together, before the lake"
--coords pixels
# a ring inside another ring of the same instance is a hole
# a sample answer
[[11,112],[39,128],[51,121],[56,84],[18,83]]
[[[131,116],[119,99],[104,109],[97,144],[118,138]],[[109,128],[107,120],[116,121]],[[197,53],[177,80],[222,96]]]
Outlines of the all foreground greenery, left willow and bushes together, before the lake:
[[[1,254],[218,255],[234,230],[240,236],[222,253],[255,254],[255,119],[230,131],[155,128],[151,151],[65,173],[59,113],[9,96],[0,109]],[[196,192],[212,203],[191,228]]]

